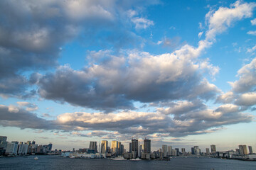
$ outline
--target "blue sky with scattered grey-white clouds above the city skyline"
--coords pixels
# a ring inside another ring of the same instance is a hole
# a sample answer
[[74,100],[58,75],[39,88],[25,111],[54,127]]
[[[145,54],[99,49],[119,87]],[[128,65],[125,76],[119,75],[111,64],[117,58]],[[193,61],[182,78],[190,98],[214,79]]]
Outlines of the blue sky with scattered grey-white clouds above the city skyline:
[[0,1],[0,135],[256,151],[255,36],[255,1]]

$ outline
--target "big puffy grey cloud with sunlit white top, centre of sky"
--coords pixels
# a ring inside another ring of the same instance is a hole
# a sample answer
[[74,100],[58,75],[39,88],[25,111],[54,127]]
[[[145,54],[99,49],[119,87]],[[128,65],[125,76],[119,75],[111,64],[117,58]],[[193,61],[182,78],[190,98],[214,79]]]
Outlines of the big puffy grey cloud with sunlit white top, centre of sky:
[[[196,63],[182,56],[132,52],[127,57],[117,57],[109,51],[90,54],[89,59],[97,64],[80,71],[68,65],[59,67],[54,74],[39,79],[39,94],[43,98],[110,112],[134,109],[133,101],[209,100],[219,92],[202,78]],[[98,55],[103,56],[102,60]]]

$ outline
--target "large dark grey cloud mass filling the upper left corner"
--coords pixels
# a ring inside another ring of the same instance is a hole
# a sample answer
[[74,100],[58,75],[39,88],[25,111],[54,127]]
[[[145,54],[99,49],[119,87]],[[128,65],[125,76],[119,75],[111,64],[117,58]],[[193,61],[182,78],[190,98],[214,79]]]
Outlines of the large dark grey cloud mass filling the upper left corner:
[[[156,3],[156,1],[146,2],[147,5]],[[106,1],[36,3],[30,0],[1,1],[1,96],[20,98],[32,96],[26,89],[30,86],[29,83],[36,83],[36,79],[33,79],[32,75],[28,80],[22,76],[22,73],[31,70],[37,72],[58,65],[60,47],[74,40],[78,35],[82,35],[88,45],[92,45],[96,39],[100,40],[95,42],[97,46],[105,41],[111,42],[118,48],[122,45],[137,44],[141,38],[129,30],[119,29],[127,24],[127,19],[122,15],[123,11],[133,6],[139,8],[142,3],[139,1],[107,1],[107,3]],[[116,37],[97,38],[102,32]],[[123,38],[117,42],[117,37]],[[9,84],[8,81],[14,82]]]

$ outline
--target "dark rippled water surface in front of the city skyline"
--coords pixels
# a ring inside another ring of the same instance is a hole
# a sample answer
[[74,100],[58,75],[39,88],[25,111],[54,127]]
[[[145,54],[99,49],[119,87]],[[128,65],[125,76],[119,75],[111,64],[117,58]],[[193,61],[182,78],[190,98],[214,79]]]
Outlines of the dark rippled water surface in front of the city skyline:
[[[34,157],[38,157],[35,160]],[[177,157],[170,161],[114,161],[112,159],[70,159],[60,156],[1,157],[0,169],[256,169],[256,162],[208,157]]]

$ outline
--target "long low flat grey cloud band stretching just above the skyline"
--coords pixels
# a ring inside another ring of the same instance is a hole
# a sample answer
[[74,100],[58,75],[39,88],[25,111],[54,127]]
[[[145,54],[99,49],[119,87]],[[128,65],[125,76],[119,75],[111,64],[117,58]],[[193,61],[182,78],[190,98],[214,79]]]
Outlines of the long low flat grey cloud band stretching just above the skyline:
[[[215,111],[184,113],[185,119],[144,112],[63,113],[56,120],[38,118],[34,113],[15,106],[0,106],[0,125],[39,130],[63,130],[82,137],[128,139],[133,135],[151,137],[182,137],[215,132],[218,127],[252,121],[252,115],[240,113],[238,106],[224,105]],[[216,128],[217,127],[217,128]],[[75,132],[72,132],[75,130]],[[83,134],[82,130],[92,130]]]

